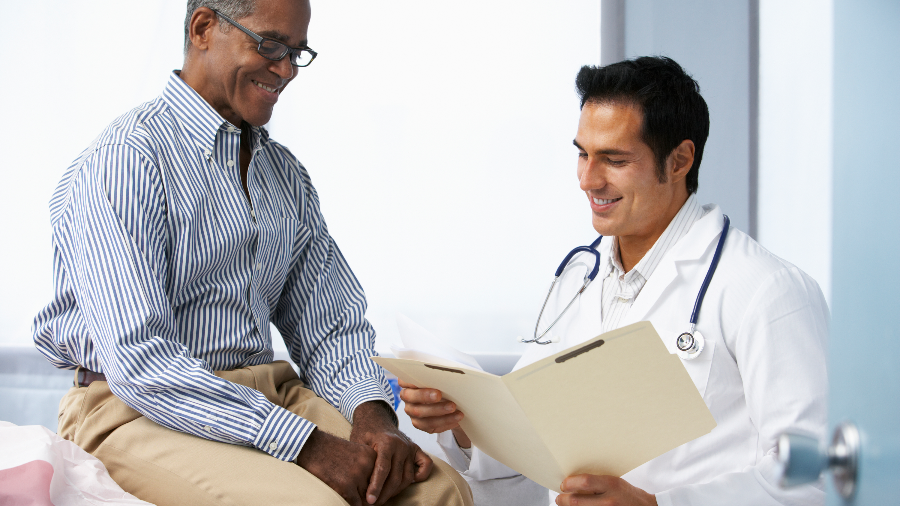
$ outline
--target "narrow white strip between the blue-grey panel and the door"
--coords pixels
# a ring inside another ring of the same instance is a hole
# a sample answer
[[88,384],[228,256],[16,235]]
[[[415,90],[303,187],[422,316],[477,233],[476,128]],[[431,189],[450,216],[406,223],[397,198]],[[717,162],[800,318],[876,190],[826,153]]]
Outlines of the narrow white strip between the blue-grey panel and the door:
[[832,11],[831,0],[760,0],[759,23],[758,239],[829,302]]

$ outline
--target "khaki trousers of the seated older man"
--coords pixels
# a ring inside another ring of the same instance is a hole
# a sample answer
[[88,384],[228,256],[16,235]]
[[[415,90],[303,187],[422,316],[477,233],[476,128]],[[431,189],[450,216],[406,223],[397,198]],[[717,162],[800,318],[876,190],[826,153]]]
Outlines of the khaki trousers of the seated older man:
[[[216,372],[254,388],[267,399],[348,439],[350,423],[331,404],[303,388],[287,362]],[[136,497],[168,505],[347,506],[328,485],[302,467],[255,448],[209,441],[162,427],[131,409],[105,381],[75,387],[59,409],[59,435],[106,466]],[[465,480],[432,457],[431,476],[393,498],[391,505],[472,505]]]

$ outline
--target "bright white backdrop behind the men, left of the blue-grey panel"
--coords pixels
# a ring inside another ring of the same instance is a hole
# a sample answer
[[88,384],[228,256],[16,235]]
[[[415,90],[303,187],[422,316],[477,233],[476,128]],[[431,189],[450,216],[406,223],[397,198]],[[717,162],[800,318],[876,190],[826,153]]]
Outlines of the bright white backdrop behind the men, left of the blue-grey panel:
[[[63,170],[180,67],[183,1],[82,5],[20,2],[0,19],[0,343],[30,343],[49,300]],[[553,269],[595,235],[571,141],[598,1],[313,0],[310,45],[320,56],[271,131],[310,170],[379,348],[402,311],[471,351],[518,349]]]

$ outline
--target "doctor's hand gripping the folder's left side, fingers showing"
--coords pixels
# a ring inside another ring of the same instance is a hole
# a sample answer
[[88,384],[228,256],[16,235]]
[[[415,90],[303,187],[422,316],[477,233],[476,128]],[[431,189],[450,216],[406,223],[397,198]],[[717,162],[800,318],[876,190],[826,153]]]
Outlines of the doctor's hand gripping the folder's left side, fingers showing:
[[400,398],[406,403],[404,411],[412,420],[413,427],[429,434],[452,430],[456,442],[461,447],[472,446],[469,436],[459,426],[459,421],[465,415],[456,409],[456,404],[442,400],[443,395],[440,390],[419,388],[403,380],[397,382],[402,388]]

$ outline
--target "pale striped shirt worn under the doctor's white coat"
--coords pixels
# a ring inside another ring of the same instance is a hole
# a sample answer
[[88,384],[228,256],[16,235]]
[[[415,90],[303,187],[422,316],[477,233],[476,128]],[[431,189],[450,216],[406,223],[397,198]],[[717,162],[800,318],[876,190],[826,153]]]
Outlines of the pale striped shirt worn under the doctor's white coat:
[[628,272],[625,272],[625,268],[622,267],[622,262],[619,260],[619,240],[617,237],[613,238],[613,244],[609,249],[609,262],[604,267],[603,273],[603,294],[600,308],[603,332],[619,328],[622,317],[631,309],[631,305],[634,304],[641,289],[656,270],[660,260],[701,217],[703,217],[703,208],[697,203],[697,196],[691,194],[650,251]]

